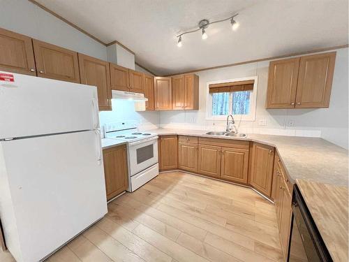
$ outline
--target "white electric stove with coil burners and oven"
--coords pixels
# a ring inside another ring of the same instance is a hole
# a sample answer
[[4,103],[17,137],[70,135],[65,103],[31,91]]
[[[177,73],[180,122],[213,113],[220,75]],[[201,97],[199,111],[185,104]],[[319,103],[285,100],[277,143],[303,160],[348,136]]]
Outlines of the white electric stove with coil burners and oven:
[[135,191],[158,175],[158,136],[138,131],[137,123],[113,122],[104,126],[105,138],[127,142],[128,190]]

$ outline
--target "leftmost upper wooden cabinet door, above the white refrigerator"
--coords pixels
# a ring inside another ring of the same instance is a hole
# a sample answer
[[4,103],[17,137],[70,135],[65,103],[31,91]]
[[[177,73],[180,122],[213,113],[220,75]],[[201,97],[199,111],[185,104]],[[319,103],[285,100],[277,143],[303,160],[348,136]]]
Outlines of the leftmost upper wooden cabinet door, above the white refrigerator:
[[0,70],[36,75],[30,37],[0,28]]

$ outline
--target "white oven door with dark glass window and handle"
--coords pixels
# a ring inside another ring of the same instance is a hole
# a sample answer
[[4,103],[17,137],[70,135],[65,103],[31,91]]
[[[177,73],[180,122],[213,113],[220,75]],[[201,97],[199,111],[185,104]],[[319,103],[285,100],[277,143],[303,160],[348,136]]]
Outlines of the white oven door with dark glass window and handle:
[[158,136],[129,143],[128,163],[131,176],[158,163]]

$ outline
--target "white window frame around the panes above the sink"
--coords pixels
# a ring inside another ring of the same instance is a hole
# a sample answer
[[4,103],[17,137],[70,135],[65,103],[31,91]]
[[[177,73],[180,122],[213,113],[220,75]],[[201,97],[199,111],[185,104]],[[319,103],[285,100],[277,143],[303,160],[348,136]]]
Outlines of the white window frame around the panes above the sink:
[[[255,108],[257,106],[257,87],[258,87],[258,76],[251,76],[248,78],[234,78],[227,80],[217,80],[210,81],[206,83],[206,119],[207,120],[225,120],[227,119],[227,115],[212,115],[212,94],[209,94],[209,85],[212,84],[221,84],[224,82],[237,82],[244,80],[255,80],[253,84],[253,91],[250,95],[250,113],[248,115],[233,115],[235,120],[240,121],[255,121]],[[232,96],[229,96],[229,113],[232,112]]]

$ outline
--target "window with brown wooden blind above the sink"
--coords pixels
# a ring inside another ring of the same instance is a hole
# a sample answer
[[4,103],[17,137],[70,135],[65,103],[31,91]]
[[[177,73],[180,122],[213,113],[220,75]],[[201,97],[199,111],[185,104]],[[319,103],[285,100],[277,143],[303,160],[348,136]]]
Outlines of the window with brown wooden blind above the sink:
[[207,119],[240,116],[244,121],[255,119],[255,78],[207,83]]

